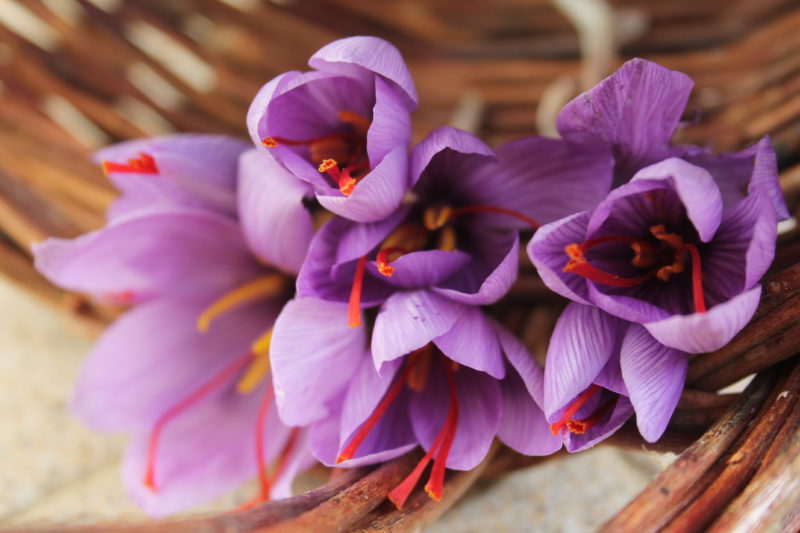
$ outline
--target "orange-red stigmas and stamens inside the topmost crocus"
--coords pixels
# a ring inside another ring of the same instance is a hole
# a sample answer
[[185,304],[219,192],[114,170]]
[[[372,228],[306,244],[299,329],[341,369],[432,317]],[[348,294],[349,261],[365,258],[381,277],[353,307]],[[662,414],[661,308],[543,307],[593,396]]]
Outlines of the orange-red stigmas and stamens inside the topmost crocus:
[[349,109],[339,111],[339,120],[346,131],[329,133],[305,140],[266,137],[261,143],[267,148],[285,146],[307,146],[309,159],[320,172],[330,176],[339,191],[349,196],[356,184],[370,171],[367,155],[367,132],[370,121]]

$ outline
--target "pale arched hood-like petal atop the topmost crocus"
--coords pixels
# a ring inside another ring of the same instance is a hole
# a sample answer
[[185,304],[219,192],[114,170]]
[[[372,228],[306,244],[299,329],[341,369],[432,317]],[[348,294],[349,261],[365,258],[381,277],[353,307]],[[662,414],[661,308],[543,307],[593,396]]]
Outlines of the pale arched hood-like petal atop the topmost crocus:
[[379,74],[394,83],[405,96],[410,110],[417,106],[417,91],[400,52],[377,37],[348,37],[320,48],[309,66],[327,72],[360,75],[358,67]]

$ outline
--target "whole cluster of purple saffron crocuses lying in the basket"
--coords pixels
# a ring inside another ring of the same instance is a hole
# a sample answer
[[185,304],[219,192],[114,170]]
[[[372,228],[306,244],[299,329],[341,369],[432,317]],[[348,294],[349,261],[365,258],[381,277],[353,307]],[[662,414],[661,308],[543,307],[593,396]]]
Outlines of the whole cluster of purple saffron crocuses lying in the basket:
[[[402,506],[495,437],[588,448],[634,414],[657,440],[688,354],[753,315],[787,217],[768,139],[672,146],[685,75],[632,60],[569,103],[562,139],[492,149],[454,128],[409,151],[417,105],[398,51],[333,42],[266,84],[255,143],[176,135],[97,154],[121,191],[100,231],[35,247],[54,283],[132,307],[98,342],[74,408],[132,434],[124,481],[154,515],[257,476],[290,493],[319,461],[419,446]],[[487,314],[520,233],[570,300],[541,369]]]

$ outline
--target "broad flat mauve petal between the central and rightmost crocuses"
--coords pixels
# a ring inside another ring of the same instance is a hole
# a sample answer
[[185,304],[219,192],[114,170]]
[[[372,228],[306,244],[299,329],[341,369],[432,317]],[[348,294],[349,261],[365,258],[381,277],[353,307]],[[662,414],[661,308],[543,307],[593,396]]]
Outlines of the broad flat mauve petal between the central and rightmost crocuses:
[[[500,146],[496,154],[496,164],[462,177],[469,182],[465,187],[481,191],[485,205],[512,209],[542,224],[592,209],[611,188],[614,158],[606,145],[528,137]],[[526,226],[502,217],[498,222],[506,226],[509,221]]]

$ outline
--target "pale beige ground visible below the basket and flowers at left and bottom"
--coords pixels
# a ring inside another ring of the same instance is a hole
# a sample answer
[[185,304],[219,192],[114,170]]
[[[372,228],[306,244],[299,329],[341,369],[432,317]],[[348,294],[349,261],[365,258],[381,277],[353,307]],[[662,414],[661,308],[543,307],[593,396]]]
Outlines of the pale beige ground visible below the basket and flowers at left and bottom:
[[[4,278],[0,309],[0,527],[141,518],[119,482],[124,438],[94,434],[68,410],[91,341]],[[429,531],[592,531],[657,470],[643,453],[598,448],[474,491]],[[230,509],[253,493],[244,487],[204,510]]]

